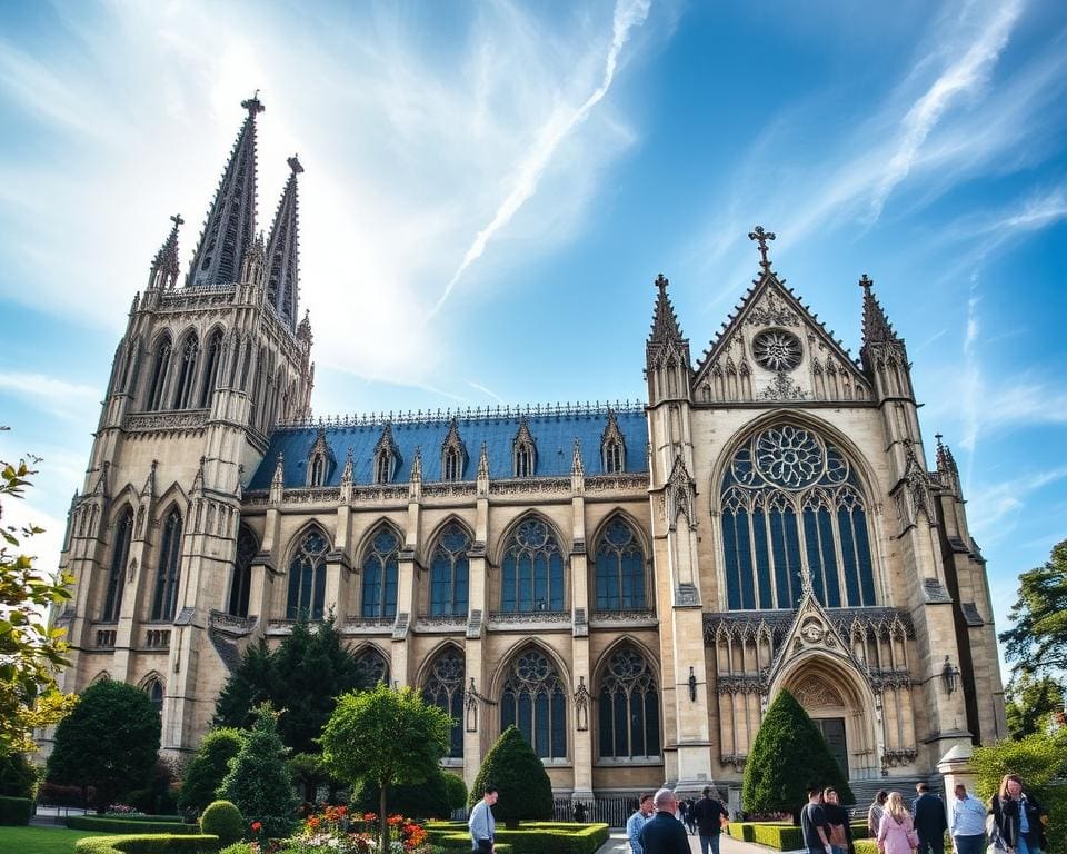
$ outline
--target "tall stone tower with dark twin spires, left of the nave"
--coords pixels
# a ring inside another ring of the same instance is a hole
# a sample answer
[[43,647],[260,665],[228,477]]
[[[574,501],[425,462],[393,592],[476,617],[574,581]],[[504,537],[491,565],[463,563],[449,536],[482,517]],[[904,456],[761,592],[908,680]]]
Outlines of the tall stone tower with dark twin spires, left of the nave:
[[[61,565],[76,578],[59,617],[70,640],[64,691],[98,678],[146,688],[162,712],[162,747],[196,746],[225,667],[211,612],[247,616],[235,562],[242,488],[280,421],[306,418],[311,327],[298,322],[297,179],[266,242],[257,232],[256,121],[248,112],[186,277],[181,217],[134,296],[74,496]],[[247,562],[238,562],[238,565]]]

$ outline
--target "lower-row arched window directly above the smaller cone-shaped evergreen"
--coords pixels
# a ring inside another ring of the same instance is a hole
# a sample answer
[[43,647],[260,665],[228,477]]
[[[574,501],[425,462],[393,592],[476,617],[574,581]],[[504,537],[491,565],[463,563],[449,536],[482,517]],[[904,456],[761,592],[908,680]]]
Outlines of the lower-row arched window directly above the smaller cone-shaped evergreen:
[[567,698],[556,667],[539,649],[511,663],[500,695],[500,729],[515,724],[542,759],[567,757]]

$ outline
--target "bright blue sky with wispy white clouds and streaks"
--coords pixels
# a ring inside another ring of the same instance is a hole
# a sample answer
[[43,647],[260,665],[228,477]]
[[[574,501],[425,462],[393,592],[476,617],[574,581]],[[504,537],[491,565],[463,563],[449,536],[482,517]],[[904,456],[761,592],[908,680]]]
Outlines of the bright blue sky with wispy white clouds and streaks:
[[317,415],[644,399],[656,276],[698,357],[758,224],[854,357],[875,280],[998,628],[1067,537],[1064,3],[9,0],[0,459],[41,458],[4,523],[43,565],[133,294],[178,212],[188,265],[257,89],[262,228],[306,169]]

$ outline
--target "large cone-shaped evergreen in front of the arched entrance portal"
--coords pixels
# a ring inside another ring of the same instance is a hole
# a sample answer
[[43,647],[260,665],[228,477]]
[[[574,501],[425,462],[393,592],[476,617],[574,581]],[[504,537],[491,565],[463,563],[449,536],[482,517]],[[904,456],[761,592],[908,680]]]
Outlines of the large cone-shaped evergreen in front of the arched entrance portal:
[[770,704],[745,763],[741,804],[748,813],[792,813],[807,803],[808,785],[834,786],[841,803],[855,801],[822,733],[792,694]]

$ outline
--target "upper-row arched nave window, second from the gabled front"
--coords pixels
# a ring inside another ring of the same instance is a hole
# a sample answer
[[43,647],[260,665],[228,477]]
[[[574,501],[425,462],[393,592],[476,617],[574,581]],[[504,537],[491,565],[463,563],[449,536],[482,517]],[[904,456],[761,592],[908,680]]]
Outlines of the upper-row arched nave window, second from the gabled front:
[[526,519],[515,528],[503,553],[501,575],[501,610],[564,609],[564,554],[540,519]]

